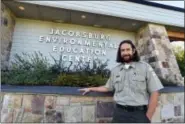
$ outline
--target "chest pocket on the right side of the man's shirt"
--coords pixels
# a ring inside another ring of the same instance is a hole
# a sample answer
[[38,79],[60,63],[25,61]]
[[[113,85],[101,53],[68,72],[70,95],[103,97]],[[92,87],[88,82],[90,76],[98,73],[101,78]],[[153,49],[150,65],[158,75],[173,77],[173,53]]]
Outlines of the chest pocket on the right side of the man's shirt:
[[138,75],[133,76],[131,79],[132,88],[135,90],[145,90],[146,89],[146,80],[144,76]]

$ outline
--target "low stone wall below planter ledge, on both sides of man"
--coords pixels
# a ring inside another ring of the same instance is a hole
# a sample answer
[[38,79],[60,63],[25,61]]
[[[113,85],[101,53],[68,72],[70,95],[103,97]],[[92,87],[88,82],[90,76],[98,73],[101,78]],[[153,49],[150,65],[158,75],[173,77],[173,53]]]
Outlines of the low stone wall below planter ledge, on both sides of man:
[[[1,122],[9,123],[111,122],[114,107],[112,97],[3,92],[0,100]],[[184,122],[184,93],[162,93],[152,122]]]

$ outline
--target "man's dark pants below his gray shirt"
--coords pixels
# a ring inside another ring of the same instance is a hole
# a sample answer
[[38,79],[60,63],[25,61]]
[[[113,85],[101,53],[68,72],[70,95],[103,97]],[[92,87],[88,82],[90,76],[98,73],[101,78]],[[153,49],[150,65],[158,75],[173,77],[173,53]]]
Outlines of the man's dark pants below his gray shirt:
[[147,110],[128,111],[115,106],[112,123],[150,123]]

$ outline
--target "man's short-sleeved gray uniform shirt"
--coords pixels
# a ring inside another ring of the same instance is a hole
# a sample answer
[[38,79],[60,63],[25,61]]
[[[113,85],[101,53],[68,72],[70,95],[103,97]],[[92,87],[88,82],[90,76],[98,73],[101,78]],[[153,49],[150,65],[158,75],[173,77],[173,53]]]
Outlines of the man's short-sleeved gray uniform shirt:
[[150,93],[163,88],[152,67],[145,62],[132,62],[128,69],[124,64],[116,66],[106,85],[115,91],[114,101],[120,105],[148,105]]

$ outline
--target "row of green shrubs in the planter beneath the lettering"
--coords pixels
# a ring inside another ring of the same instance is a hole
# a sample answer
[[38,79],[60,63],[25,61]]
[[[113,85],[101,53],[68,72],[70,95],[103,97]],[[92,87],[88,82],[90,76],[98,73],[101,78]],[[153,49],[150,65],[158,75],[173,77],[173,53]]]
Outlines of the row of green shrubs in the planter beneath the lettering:
[[[51,56],[52,57],[52,56]],[[8,70],[1,74],[2,84],[10,85],[54,85],[54,86],[100,86],[107,81],[110,70],[107,62],[94,60],[92,63],[79,62],[68,65],[54,60],[49,64],[46,57],[39,52],[34,54],[16,54]]]

